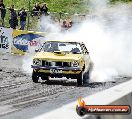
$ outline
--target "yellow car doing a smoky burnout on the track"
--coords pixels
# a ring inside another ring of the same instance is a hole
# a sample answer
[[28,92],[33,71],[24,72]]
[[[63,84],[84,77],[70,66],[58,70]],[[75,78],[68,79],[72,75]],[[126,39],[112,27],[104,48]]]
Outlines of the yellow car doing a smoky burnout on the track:
[[37,83],[51,78],[77,79],[78,85],[88,83],[92,62],[89,52],[80,42],[45,41],[33,57],[32,80]]

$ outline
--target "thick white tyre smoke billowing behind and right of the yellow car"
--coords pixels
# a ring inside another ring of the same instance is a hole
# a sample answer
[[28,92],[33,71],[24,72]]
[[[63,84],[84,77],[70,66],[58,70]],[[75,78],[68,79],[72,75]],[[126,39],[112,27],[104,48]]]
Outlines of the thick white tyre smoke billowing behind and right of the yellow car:
[[[95,2],[96,1],[96,2]],[[92,81],[109,81],[118,75],[132,75],[132,14],[126,4],[108,6],[108,0],[90,0],[92,12],[85,22],[62,33],[50,18],[42,18],[41,30],[48,29],[50,38],[84,42],[94,62]]]

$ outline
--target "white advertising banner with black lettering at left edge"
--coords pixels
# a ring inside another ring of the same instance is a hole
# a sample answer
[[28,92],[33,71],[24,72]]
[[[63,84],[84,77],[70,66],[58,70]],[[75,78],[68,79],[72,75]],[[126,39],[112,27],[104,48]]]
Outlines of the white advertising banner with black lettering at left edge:
[[0,27],[0,53],[11,52],[12,33],[12,29]]

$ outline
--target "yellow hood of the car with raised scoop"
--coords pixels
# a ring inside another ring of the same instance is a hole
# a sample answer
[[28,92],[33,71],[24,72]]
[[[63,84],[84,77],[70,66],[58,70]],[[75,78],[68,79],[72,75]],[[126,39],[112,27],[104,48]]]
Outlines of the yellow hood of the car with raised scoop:
[[71,60],[79,60],[82,56],[83,56],[82,54],[72,54],[72,53],[64,53],[64,52],[56,52],[56,53],[38,52],[36,53],[34,58],[43,59],[43,60],[71,61]]

